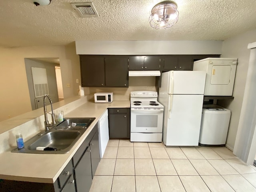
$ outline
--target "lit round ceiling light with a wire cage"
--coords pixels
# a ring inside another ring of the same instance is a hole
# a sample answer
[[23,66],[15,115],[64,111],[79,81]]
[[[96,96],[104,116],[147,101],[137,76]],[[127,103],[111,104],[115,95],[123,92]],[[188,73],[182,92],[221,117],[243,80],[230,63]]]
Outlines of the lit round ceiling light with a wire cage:
[[163,1],[152,8],[149,23],[152,28],[166,29],[176,24],[178,16],[177,4],[173,1]]

